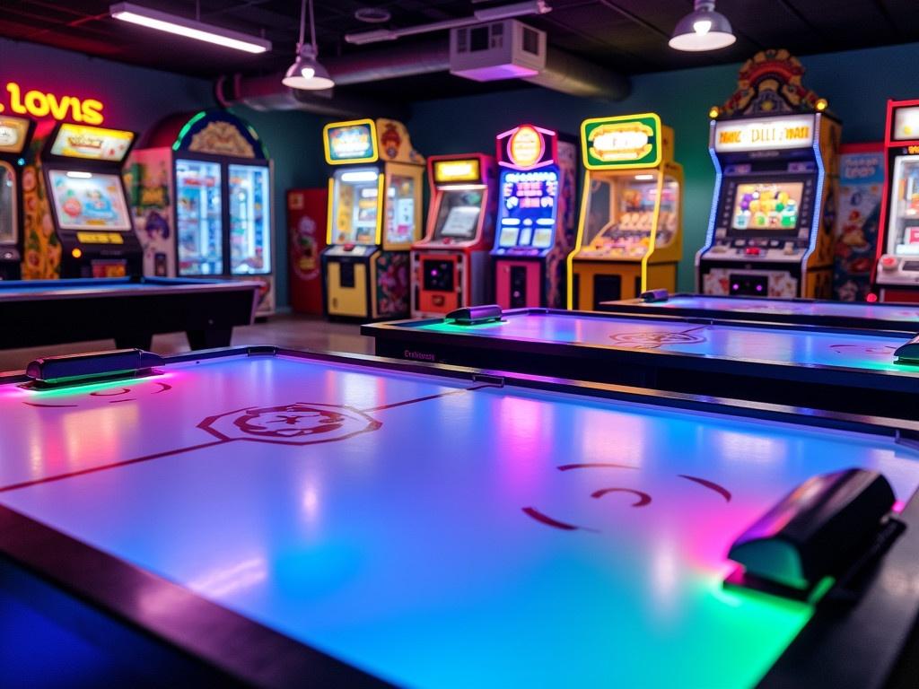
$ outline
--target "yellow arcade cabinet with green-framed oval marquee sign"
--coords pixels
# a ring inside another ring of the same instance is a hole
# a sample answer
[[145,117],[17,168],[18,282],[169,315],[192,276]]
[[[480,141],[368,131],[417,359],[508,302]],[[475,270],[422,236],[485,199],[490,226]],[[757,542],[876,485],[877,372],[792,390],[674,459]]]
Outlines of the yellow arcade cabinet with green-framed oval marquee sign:
[[674,130],[654,113],[586,119],[586,173],[577,244],[569,257],[570,309],[676,289],[683,251],[683,167]]

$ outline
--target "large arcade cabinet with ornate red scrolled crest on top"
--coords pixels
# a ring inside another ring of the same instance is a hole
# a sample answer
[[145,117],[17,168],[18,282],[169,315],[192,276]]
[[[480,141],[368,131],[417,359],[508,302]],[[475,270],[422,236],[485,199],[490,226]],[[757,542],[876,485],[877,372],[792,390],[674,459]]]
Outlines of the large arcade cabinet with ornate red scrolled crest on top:
[[713,107],[717,172],[698,290],[744,297],[829,299],[840,125],[800,84],[787,51],[741,68],[739,89]]

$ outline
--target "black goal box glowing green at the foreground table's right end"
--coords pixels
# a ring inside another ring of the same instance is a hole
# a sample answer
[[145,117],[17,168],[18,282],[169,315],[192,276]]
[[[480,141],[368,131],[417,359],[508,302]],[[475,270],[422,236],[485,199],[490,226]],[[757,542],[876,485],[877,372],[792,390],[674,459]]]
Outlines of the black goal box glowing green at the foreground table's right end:
[[813,600],[835,582],[828,597],[857,597],[861,575],[904,528],[894,500],[876,471],[813,476],[734,541],[728,558],[738,567],[724,585]]

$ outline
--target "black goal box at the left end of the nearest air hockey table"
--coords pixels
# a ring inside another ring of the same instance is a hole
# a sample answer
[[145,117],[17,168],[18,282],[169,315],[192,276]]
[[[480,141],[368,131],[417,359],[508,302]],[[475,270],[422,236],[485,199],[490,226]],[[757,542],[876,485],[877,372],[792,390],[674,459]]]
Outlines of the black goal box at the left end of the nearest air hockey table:
[[46,356],[26,367],[28,385],[33,388],[60,388],[99,383],[120,378],[142,378],[163,366],[163,358],[142,349],[116,349],[110,352]]

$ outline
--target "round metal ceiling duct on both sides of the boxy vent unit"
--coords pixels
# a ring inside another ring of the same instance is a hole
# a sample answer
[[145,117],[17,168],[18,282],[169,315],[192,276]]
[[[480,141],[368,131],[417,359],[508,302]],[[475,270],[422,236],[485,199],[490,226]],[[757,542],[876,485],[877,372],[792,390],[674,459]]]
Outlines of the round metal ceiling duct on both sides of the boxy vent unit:
[[[323,58],[323,64],[336,85],[360,85],[418,74],[448,72],[450,68],[449,41],[427,41],[422,44],[403,43],[391,45],[386,50],[376,50]],[[593,62],[571,53],[549,47],[546,67],[538,76],[528,77],[530,84],[549,88],[571,96],[597,100],[622,100],[630,93],[629,79],[610,72]],[[370,98],[350,96],[334,89],[328,92],[291,92],[281,85],[281,75],[263,77],[221,77],[217,85],[218,100],[224,106],[243,103],[256,110],[309,110],[331,117],[378,117],[400,119],[391,101],[380,102]]]

